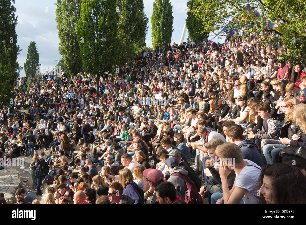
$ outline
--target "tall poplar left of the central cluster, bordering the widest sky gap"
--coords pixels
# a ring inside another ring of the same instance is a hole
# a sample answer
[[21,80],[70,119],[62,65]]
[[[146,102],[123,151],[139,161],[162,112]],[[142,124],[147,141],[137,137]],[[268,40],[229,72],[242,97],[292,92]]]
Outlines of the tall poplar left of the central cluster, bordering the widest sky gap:
[[76,24],[80,19],[82,0],[57,0],[55,20],[57,22],[59,47],[67,75],[76,75],[82,69],[80,46],[76,35]]

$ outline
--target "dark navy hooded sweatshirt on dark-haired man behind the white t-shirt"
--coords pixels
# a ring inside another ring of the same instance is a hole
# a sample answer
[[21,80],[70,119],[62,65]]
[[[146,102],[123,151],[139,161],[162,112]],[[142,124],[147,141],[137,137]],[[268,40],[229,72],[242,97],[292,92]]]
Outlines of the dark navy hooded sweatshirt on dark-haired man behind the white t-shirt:
[[263,160],[251,139],[244,139],[238,146],[241,149],[243,159],[248,159],[260,167],[263,166]]

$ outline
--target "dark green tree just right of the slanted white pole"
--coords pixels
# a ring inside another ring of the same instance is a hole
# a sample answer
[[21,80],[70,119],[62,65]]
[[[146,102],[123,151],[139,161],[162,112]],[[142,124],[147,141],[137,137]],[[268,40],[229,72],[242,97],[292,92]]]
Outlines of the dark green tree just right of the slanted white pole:
[[187,11],[186,28],[188,29],[188,39],[190,41],[193,39],[196,42],[197,40],[202,41],[208,33],[203,31],[205,24],[203,24],[191,10],[194,2],[195,0],[189,0],[187,2],[187,6],[190,10]]

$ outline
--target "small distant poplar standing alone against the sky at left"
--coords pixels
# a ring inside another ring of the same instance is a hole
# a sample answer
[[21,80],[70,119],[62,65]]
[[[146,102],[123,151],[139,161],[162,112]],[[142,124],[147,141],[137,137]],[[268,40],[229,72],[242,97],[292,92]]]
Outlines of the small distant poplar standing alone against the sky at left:
[[36,72],[36,67],[40,66],[39,64],[39,53],[37,51],[36,43],[31,41],[28,46],[27,59],[24,63],[24,72],[25,76],[29,77],[34,76]]

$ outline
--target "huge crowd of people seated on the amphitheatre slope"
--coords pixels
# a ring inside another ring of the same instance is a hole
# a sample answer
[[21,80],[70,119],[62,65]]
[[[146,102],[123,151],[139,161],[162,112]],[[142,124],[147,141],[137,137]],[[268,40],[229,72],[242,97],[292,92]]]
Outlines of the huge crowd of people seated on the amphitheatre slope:
[[144,49],[99,80],[18,78],[0,148],[32,158],[46,204],[306,203],[306,74],[284,51],[256,33],[204,38]]

